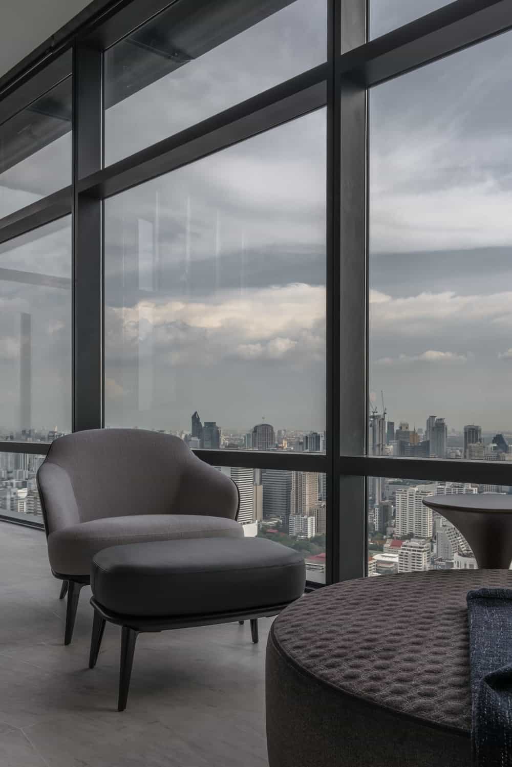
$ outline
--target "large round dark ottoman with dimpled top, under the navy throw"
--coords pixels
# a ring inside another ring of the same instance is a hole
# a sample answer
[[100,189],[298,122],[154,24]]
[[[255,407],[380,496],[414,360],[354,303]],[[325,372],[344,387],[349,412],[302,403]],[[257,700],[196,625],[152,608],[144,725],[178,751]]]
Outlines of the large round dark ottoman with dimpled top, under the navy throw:
[[466,594],[512,571],[358,578],[287,607],[267,645],[270,767],[468,767]]

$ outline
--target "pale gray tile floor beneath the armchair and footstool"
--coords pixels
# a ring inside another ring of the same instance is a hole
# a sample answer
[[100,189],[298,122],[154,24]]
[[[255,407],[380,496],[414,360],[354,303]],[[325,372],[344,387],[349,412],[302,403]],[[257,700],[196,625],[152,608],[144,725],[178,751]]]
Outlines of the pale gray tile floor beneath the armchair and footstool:
[[0,522],[2,767],[265,767],[264,650],[249,626],[143,634],[128,708],[117,713],[120,629],[87,667],[84,588],[73,644],[44,533]]

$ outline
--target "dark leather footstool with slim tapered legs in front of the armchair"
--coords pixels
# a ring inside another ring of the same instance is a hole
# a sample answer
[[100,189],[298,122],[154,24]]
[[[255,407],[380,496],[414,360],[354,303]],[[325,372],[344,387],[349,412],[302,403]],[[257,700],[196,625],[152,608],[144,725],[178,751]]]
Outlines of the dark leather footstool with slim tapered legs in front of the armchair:
[[113,546],[93,559],[89,666],[105,621],[123,627],[118,709],[126,708],[137,634],[276,615],[304,593],[304,557],[263,538],[193,538]]

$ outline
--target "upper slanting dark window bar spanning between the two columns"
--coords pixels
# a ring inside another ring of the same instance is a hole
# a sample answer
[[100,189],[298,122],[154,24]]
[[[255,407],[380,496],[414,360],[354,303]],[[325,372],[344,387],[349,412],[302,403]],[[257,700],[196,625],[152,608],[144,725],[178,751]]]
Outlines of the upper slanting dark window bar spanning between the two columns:
[[313,67],[81,179],[78,192],[101,199],[113,196],[320,109],[327,102],[326,77],[327,64]]

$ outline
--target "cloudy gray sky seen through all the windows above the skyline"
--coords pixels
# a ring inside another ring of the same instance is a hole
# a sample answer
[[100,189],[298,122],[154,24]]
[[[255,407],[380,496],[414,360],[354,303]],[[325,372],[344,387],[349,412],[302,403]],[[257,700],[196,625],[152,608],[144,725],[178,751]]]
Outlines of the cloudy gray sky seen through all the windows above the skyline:
[[[375,0],[372,35],[440,5]],[[112,107],[107,160],[320,63],[325,23],[321,0],[298,0]],[[370,387],[397,422],[512,429],[508,48],[495,38],[370,97]],[[65,140],[47,148],[63,178]],[[33,167],[0,178],[3,215],[48,192]],[[325,427],[325,171],[320,110],[107,202],[107,425],[177,430],[199,410],[226,429]],[[0,268],[69,276],[69,238],[61,223],[4,246]],[[69,295],[3,281],[0,303],[0,425],[19,422],[29,308],[45,339],[32,420],[66,428]]]

